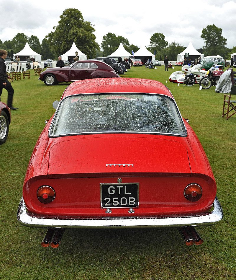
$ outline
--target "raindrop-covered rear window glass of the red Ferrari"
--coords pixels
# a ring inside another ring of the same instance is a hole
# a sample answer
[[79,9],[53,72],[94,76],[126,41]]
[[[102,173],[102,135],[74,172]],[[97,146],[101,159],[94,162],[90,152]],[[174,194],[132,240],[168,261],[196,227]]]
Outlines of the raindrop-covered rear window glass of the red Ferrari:
[[186,135],[176,103],[157,94],[87,94],[66,97],[53,118],[49,136],[88,133]]

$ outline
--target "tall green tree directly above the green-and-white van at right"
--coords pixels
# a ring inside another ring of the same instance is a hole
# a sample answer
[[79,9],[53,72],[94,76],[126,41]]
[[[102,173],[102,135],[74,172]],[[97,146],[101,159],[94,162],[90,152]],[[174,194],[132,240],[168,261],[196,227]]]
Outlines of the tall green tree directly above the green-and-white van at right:
[[201,38],[205,41],[204,55],[224,55],[227,39],[222,36],[222,28],[207,25],[201,31]]

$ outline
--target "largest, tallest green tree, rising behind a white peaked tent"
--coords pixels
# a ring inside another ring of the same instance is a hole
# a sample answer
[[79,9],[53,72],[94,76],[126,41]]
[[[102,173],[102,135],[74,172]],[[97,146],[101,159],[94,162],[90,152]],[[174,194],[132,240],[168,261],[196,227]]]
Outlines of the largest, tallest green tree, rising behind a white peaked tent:
[[58,25],[53,29],[46,38],[51,51],[57,56],[68,51],[73,42],[88,58],[94,57],[99,49],[98,43],[95,42],[94,25],[84,21],[82,13],[77,9],[65,9],[60,15]]

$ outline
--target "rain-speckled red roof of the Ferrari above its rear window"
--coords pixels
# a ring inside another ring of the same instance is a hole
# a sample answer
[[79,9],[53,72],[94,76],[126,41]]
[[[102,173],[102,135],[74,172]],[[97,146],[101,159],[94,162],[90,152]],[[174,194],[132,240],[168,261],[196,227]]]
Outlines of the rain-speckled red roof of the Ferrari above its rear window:
[[103,92],[158,93],[173,98],[170,90],[165,85],[154,80],[135,78],[99,78],[73,82],[65,89],[61,99],[75,94]]

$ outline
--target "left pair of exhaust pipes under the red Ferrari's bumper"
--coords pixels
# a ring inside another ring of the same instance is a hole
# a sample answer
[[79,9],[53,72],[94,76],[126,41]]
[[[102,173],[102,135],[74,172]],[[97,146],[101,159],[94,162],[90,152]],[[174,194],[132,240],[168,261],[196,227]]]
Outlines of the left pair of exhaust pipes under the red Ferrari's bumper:
[[43,238],[41,242],[42,247],[49,247],[51,246],[52,248],[58,248],[60,245],[60,240],[63,235],[64,230],[61,228],[53,228],[50,227],[46,234],[45,237]]

